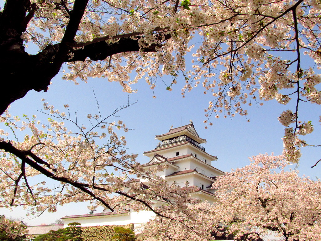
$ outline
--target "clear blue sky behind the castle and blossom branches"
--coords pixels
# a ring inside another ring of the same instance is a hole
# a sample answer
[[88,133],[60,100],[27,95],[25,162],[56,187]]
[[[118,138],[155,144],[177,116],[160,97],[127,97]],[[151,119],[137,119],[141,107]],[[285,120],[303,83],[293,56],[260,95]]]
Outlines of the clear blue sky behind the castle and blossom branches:
[[[61,79],[56,76],[48,92],[38,93],[30,91],[23,99],[15,101],[11,106],[11,114],[22,116],[22,114],[37,115],[38,119],[45,120],[48,117],[38,112],[42,109],[41,99],[45,98],[49,104],[58,109],[64,109],[63,104],[69,104],[70,110],[78,111],[77,115],[83,120],[84,125],[88,125],[87,114],[96,114],[96,100],[93,90],[100,102],[100,111],[106,115],[110,114],[114,108],[118,108],[127,102],[128,96],[131,102],[138,100],[137,104],[124,109],[119,118],[122,119],[128,128],[133,129],[127,133],[126,140],[128,152],[139,153],[138,161],[148,162],[148,158],[143,156],[143,151],[149,151],[156,147],[158,143],[154,139],[155,135],[168,132],[171,125],[178,127],[186,125],[191,119],[200,135],[207,143],[203,146],[205,150],[218,157],[212,165],[223,171],[230,171],[232,168],[243,167],[249,163],[248,157],[258,153],[281,154],[284,128],[277,120],[283,110],[291,109],[291,104],[283,106],[275,100],[264,102],[263,106],[252,106],[248,108],[247,120],[239,115],[234,118],[213,119],[213,126],[204,129],[205,112],[208,101],[212,100],[210,95],[203,94],[203,88],[194,88],[181,97],[180,91],[183,82],[173,86],[173,91],[166,90],[166,86],[159,83],[155,88],[156,99],[153,99],[152,90],[144,82],[138,82],[132,88],[137,89],[137,93],[128,94],[122,92],[122,87],[115,82],[108,82],[107,79],[90,79],[88,83],[81,82],[75,86],[73,82]],[[320,106],[311,104],[301,104],[300,116],[302,120],[311,120],[315,125],[315,131],[305,136],[305,140],[311,144],[320,144]],[[3,128],[3,127],[1,127]],[[319,176],[321,164],[315,168],[311,166],[321,158],[320,148],[306,147],[302,149],[302,158],[299,162],[300,175]],[[292,165],[291,168],[295,168]],[[87,204],[73,203],[58,207],[56,213],[44,213],[35,219],[26,220],[30,225],[54,222],[55,219],[65,215],[88,213]],[[15,208],[13,211],[2,209],[7,216],[24,218],[24,211]]]

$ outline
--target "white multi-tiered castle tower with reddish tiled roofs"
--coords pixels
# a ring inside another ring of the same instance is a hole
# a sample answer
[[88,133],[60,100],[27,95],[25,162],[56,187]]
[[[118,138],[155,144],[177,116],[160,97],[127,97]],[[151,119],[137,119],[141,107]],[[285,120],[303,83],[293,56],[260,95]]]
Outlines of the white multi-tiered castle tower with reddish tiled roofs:
[[193,123],[171,128],[168,133],[156,135],[155,139],[160,141],[156,148],[143,153],[150,158],[148,163],[143,164],[144,168],[147,170],[155,165],[167,164],[168,168],[156,175],[165,178],[169,184],[175,181],[182,188],[186,182],[188,186],[197,186],[199,189],[193,194],[195,198],[214,202],[212,184],[216,176],[225,172],[211,165],[217,157],[205,151],[201,144],[206,140],[199,137]]

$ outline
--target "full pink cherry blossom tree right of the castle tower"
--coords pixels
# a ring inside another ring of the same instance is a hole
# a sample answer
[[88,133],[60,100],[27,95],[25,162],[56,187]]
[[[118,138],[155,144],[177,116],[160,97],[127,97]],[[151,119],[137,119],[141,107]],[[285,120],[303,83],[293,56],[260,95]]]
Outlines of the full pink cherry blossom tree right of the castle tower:
[[260,154],[251,162],[213,185],[216,218],[236,236],[273,231],[286,241],[319,239],[320,180],[286,171],[284,156]]

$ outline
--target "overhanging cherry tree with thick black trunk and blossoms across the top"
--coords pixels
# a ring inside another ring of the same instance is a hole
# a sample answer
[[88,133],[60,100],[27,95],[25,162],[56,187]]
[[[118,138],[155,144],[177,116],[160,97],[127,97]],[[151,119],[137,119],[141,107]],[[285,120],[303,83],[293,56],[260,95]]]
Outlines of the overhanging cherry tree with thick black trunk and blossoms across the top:
[[[299,118],[300,103],[321,103],[320,8],[316,0],[8,0],[0,15],[0,66],[10,81],[0,113],[30,90],[47,91],[62,68],[67,80],[105,77],[127,92],[139,79],[153,89],[158,77],[171,75],[168,90],[184,79],[183,96],[199,84],[212,94],[206,125],[213,117],[246,116],[245,104],[263,104],[257,98],[284,105],[293,98],[295,109],[279,120],[284,154],[297,162],[308,144],[298,135],[315,124]],[[29,42],[37,54],[28,54]],[[186,69],[190,51],[193,66]]]

